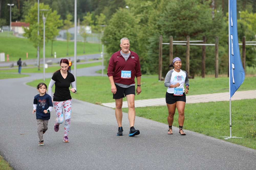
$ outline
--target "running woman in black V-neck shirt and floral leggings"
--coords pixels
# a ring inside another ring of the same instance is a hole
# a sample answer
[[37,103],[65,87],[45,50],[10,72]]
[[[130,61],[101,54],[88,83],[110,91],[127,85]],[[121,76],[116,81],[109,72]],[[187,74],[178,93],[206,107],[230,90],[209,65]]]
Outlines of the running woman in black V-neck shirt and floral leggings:
[[[55,84],[55,93],[53,95],[53,105],[57,114],[55,121],[54,130],[59,131],[59,125],[64,122],[63,107],[65,111],[65,126],[64,126],[64,137],[63,142],[69,142],[68,132],[70,128],[70,116],[71,116],[71,104],[72,98],[70,91],[76,93],[76,82],[73,74],[69,70],[68,59],[60,60],[60,69],[57,70],[51,78],[49,84],[49,95],[52,96],[52,86]],[[71,89],[69,89],[71,84]]]

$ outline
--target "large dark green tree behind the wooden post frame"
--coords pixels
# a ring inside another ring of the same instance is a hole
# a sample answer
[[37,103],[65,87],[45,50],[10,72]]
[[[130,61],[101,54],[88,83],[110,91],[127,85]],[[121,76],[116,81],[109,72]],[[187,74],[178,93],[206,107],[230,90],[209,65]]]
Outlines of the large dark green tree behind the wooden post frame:
[[[157,23],[161,29],[160,33],[163,35],[163,42],[169,42],[169,36],[171,35],[174,41],[185,41],[186,36],[190,36],[190,40],[202,40],[202,36],[205,35],[208,43],[214,43],[215,37],[213,35],[216,36],[220,30],[214,23],[218,22],[225,23],[221,17],[212,18],[212,9],[206,2],[201,3],[199,0],[173,0],[165,4]],[[151,48],[154,49],[156,47],[151,46]],[[201,48],[201,46],[190,46],[191,75],[201,72]],[[212,63],[214,63],[215,54],[214,47],[208,47],[207,51],[211,51],[211,54],[207,54],[206,63],[211,64],[207,65],[206,72],[214,70],[214,64]],[[173,53],[174,57],[180,57],[183,63],[186,63],[186,46],[174,45]],[[169,70],[169,64],[169,47],[163,45],[163,74]]]

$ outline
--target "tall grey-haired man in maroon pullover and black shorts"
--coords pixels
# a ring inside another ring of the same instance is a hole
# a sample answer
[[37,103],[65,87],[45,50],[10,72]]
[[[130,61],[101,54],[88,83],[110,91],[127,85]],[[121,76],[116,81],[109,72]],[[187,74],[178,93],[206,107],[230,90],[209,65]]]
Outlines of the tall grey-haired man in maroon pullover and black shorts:
[[122,127],[122,105],[123,98],[127,98],[128,103],[128,119],[130,122],[129,136],[140,134],[139,130],[135,130],[135,77],[137,79],[137,95],[141,93],[141,66],[137,53],[131,51],[130,41],[128,38],[120,40],[121,50],[115,52],[110,60],[108,66],[108,77],[111,83],[111,92],[113,99],[115,99],[115,117],[118,123],[117,136],[123,135]]

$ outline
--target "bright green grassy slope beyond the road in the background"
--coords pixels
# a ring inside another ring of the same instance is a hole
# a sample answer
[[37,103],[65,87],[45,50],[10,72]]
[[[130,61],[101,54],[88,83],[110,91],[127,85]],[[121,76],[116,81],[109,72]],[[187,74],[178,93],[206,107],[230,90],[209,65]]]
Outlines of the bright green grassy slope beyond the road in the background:
[[[1,33],[0,33],[1,35]],[[37,48],[33,47],[33,43],[27,38],[17,38],[14,36],[1,37],[0,36],[0,52],[5,53],[5,61],[7,61],[7,54],[9,55],[9,61],[37,59]],[[100,47],[101,48],[101,47]],[[43,58],[43,49],[40,50],[40,58]],[[101,50],[101,49],[100,49]],[[69,42],[69,49],[67,55],[67,42],[66,41],[54,41],[52,54],[56,52],[57,58],[63,58],[68,56],[74,56],[74,42]],[[96,54],[99,52],[99,44],[85,43],[85,53],[83,53],[83,42],[77,42],[77,55]],[[51,42],[45,45],[45,57],[51,56]]]

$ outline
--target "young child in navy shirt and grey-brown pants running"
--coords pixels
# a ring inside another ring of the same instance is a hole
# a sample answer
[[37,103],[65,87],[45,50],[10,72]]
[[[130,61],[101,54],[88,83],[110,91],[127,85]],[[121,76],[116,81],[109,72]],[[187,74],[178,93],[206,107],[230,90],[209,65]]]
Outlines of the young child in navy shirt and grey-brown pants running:
[[47,85],[45,83],[39,83],[37,85],[37,91],[39,91],[39,94],[35,96],[33,103],[33,114],[36,112],[37,133],[39,137],[38,146],[44,145],[43,134],[48,129],[50,111],[53,107],[52,99],[48,94],[46,94],[46,90]]

